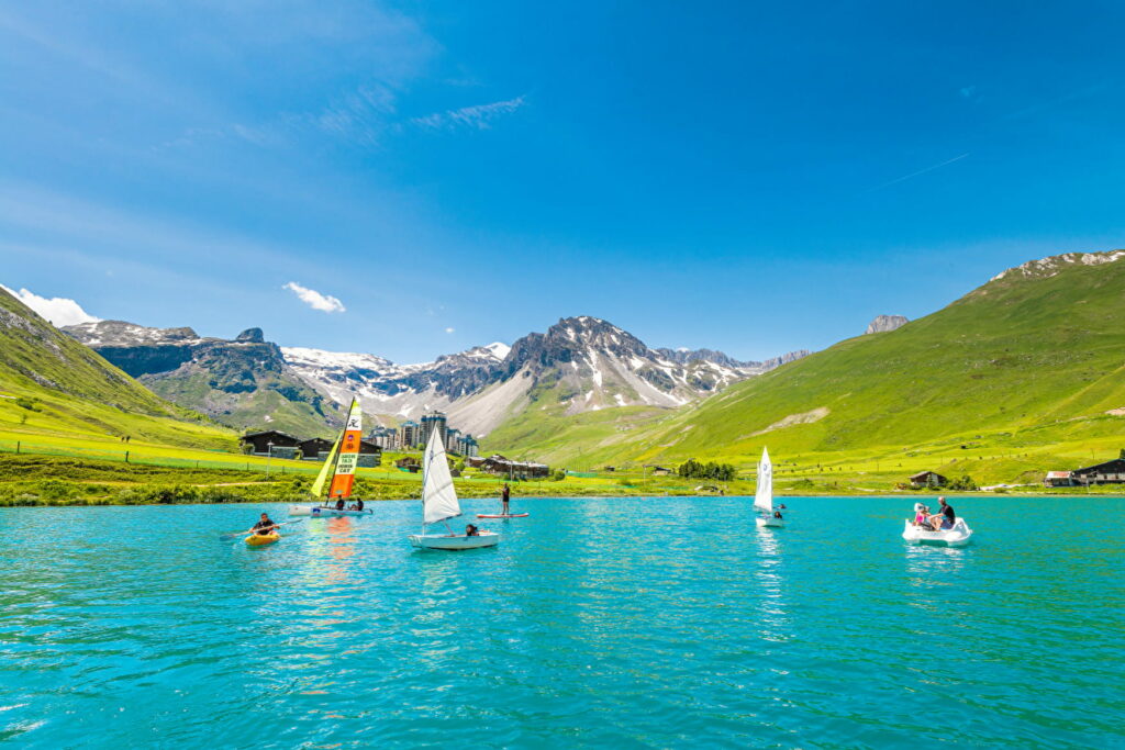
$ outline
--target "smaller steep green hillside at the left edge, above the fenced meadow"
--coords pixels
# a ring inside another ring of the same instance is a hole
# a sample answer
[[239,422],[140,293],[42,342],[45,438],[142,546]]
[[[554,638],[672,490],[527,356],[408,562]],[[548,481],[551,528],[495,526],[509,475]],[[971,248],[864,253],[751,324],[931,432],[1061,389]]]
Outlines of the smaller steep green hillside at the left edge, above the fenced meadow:
[[0,433],[236,450],[232,431],[155,396],[2,289]]

